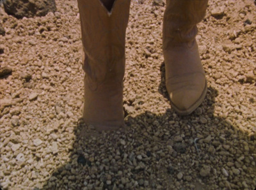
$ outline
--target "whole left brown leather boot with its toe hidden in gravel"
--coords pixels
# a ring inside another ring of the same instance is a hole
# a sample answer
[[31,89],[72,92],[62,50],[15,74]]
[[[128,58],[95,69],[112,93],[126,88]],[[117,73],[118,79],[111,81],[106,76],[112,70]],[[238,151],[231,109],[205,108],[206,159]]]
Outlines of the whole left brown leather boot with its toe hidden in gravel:
[[98,131],[124,126],[125,31],[130,1],[115,0],[111,11],[100,0],[77,0],[84,48],[86,124]]

